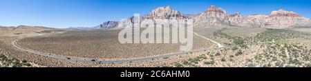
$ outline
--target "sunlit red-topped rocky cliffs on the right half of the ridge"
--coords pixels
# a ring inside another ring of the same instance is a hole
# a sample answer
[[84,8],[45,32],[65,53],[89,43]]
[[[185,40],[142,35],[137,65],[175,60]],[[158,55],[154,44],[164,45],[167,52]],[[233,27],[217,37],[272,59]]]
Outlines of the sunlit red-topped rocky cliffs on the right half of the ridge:
[[195,21],[196,27],[236,25],[245,27],[285,28],[311,26],[307,19],[295,12],[273,11],[270,15],[242,16],[239,13],[227,15],[225,10],[211,5]]

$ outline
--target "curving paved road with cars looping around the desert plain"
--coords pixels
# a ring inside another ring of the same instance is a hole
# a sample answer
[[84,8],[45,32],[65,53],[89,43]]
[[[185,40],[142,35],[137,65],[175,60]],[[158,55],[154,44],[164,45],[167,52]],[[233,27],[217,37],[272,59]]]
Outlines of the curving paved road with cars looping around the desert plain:
[[[193,32],[193,33],[196,34],[197,36],[200,36],[196,32]],[[204,36],[200,36],[200,37],[205,38],[207,40],[210,40],[209,38],[206,38]],[[202,52],[210,51],[210,50],[213,50],[213,49],[222,49],[223,47],[225,47],[223,45],[220,45],[220,43],[217,43],[214,40],[211,40],[213,43],[216,43],[218,45],[218,47],[216,47],[216,48],[209,48],[209,49],[197,49],[197,50],[191,50],[191,51],[185,51],[185,52],[176,52],[176,53],[171,53],[171,54],[167,54],[167,55],[148,56],[148,57],[144,57],[144,58],[124,59],[124,60],[88,60],[88,59],[81,59],[81,58],[68,58],[68,57],[64,57],[64,56],[54,56],[54,55],[50,55],[50,54],[41,53],[39,51],[33,51],[31,49],[25,49],[25,48],[22,48],[19,45],[17,45],[17,41],[22,39],[22,38],[26,38],[26,37],[17,38],[16,40],[12,41],[11,44],[12,44],[13,47],[15,47],[15,49],[18,49],[18,50],[23,51],[23,52],[28,52],[30,54],[35,54],[35,55],[38,55],[38,56],[44,56],[46,58],[53,58],[53,59],[57,59],[57,60],[64,60],[64,61],[70,61],[70,62],[87,62],[87,63],[140,62],[140,61],[145,61],[145,60],[155,60],[155,59],[161,59],[161,58],[169,58],[171,56],[180,56],[180,55],[186,55],[186,54],[192,54],[192,53],[202,53]]]

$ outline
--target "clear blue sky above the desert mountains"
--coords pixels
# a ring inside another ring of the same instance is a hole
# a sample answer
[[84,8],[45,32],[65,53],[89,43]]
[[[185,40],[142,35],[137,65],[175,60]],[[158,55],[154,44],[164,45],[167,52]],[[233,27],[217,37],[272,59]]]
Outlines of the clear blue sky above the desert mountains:
[[134,13],[149,14],[166,5],[183,14],[203,12],[209,5],[216,5],[228,14],[270,14],[284,9],[311,18],[310,4],[310,0],[0,0],[0,25],[93,27]]

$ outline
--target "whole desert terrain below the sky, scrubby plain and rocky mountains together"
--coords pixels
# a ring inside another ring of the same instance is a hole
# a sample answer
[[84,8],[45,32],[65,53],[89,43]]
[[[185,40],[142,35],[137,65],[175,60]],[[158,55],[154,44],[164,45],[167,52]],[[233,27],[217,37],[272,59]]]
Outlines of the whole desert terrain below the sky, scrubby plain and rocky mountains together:
[[295,12],[242,16],[210,5],[185,15],[165,6],[139,16],[194,20],[190,51],[180,43],[121,44],[118,34],[133,19],[96,27],[0,27],[0,67],[311,67],[311,21]]

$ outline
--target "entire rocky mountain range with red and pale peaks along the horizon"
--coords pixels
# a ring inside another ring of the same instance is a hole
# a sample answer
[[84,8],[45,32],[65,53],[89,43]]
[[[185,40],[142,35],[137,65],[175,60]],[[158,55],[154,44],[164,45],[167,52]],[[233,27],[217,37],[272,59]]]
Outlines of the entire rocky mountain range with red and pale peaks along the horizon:
[[[96,27],[71,27],[71,29],[80,30],[99,30],[120,28],[129,23],[133,23],[133,16],[122,21],[106,21]],[[311,21],[295,12],[286,10],[272,11],[270,15],[256,14],[243,16],[236,12],[227,14],[227,12],[214,5],[209,6],[201,14],[181,14],[173,10],[170,6],[159,7],[151,11],[140,19],[193,19],[194,27],[219,27],[219,26],[237,26],[237,27],[267,27],[267,28],[289,28],[289,27],[311,27]]]

